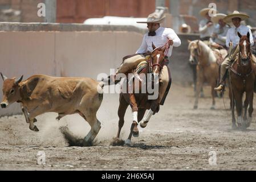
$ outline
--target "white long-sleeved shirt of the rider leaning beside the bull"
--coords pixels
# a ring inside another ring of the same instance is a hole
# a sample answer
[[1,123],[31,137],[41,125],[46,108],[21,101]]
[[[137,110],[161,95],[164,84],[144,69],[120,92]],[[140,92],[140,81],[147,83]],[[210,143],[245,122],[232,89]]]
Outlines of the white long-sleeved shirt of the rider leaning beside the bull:
[[178,47],[181,45],[181,40],[178,35],[172,30],[172,28],[159,27],[156,30],[155,36],[148,36],[145,34],[142,40],[140,48],[136,53],[145,53],[147,51],[153,51],[152,42],[156,47],[162,47],[168,42],[168,38],[173,40],[173,46],[170,46],[169,51],[166,56],[172,55],[173,47]]

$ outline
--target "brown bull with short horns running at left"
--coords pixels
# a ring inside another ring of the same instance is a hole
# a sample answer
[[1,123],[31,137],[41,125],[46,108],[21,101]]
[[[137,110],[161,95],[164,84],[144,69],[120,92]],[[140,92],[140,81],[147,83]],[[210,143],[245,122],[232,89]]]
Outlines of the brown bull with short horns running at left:
[[52,77],[34,75],[25,81],[3,76],[3,101],[6,108],[14,102],[21,103],[26,122],[32,131],[39,131],[34,125],[35,117],[47,113],[58,113],[56,119],[68,114],[80,114],[91,126],[84,138],[91,143],[100,130],[96,112],[103,100],[103,91],[99,83],[91,78]]

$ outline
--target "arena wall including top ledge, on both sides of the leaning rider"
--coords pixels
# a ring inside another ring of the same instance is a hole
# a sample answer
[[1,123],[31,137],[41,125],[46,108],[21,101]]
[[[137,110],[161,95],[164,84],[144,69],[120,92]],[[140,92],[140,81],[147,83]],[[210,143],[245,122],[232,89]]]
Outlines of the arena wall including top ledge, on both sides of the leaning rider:
[[[95,80],[99,73],[109,75],[124,56],[136,52],[145,33],[127,26],[46,23],[0,23],[0,30],[0,71],[7,77],[24,75],[23,80],[35,74]],[[178,36],[182,45],[173,49],[169,66],[173,81],[184,84],[192,82],[186,40],[198,35]],[[2,84],[1,79],[1,88]],[[0,109],[0,115],[17,113],[21,113],[17,103]]]

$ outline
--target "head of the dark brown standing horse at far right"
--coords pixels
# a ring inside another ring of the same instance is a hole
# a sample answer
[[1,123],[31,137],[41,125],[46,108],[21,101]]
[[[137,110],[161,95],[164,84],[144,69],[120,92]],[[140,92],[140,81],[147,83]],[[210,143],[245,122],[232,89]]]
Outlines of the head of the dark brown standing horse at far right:
[[247,32],[247,35],[241,35],[239,32],[237,32],[237,35],[240,38],[239,41],[239,57],[241,57],[241,60],[238,59],[238,61],[241,61],[239,64],[242,66],[247,66],[250,60],[250,33]]

